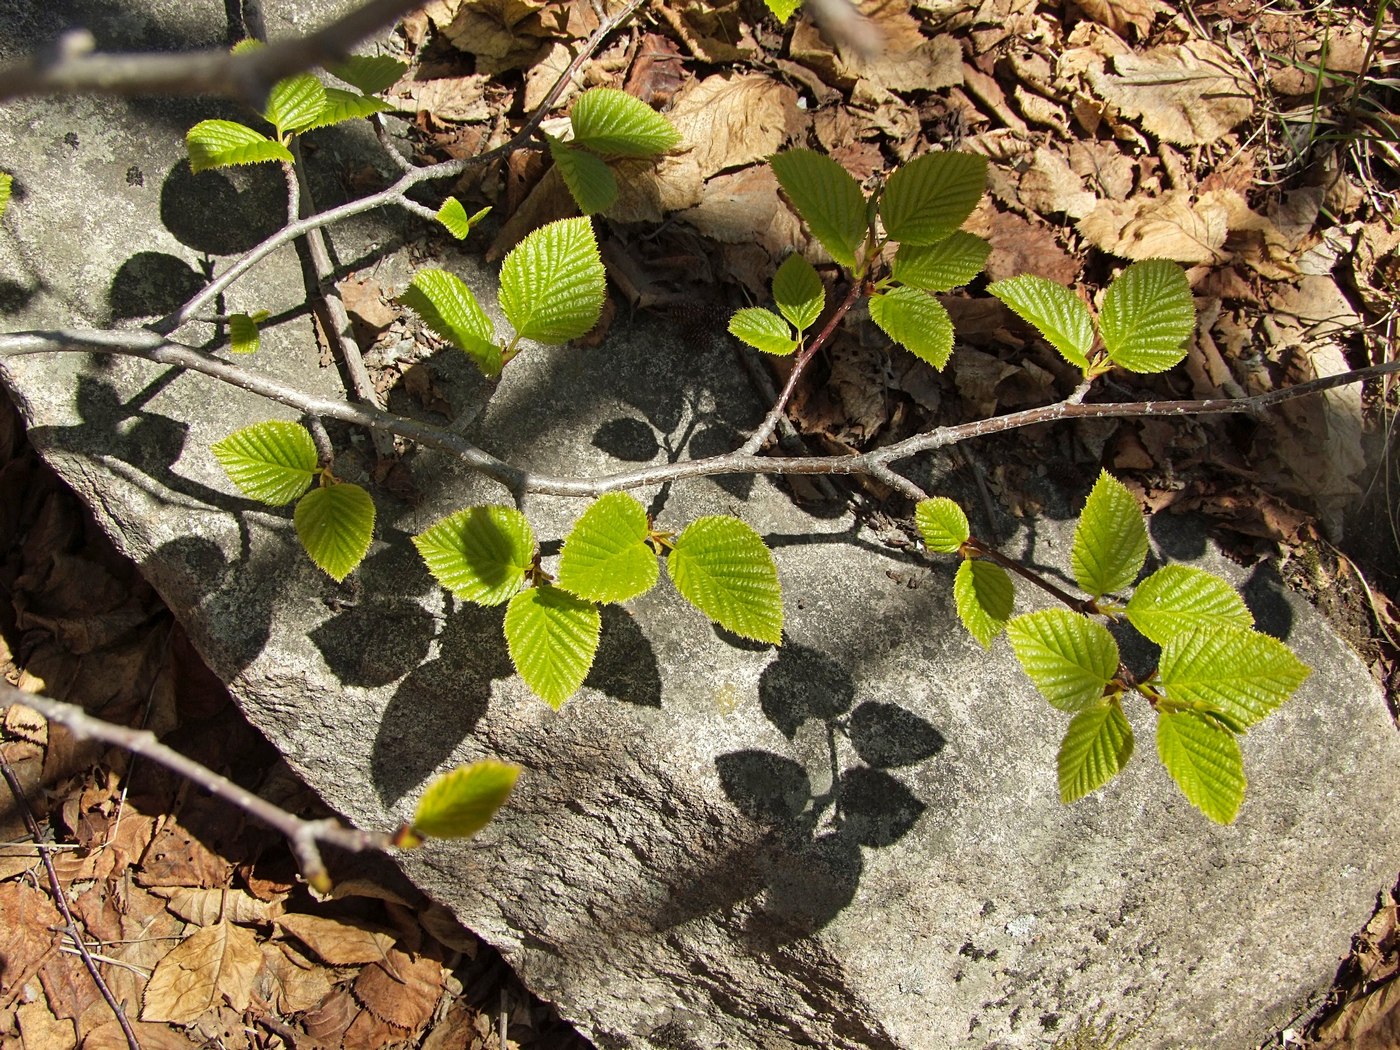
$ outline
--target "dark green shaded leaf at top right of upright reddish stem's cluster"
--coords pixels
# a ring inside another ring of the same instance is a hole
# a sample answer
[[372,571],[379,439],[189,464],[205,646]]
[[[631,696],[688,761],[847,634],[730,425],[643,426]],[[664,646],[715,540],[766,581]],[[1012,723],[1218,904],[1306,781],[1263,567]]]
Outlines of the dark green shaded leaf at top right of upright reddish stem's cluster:
[[890,241],[938,244],[967,220],[986,188],[986,157],[925,153],[889,176],[879,217]]

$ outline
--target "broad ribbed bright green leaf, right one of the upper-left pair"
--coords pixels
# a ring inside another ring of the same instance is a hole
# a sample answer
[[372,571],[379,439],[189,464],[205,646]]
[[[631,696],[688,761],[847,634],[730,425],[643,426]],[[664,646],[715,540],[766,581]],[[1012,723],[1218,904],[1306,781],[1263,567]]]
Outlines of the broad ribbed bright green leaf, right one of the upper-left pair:
[[594,225],[561,218],[529,234],[501,263],[501,309],[525,339],[567,343],[603,309],[603,263]]

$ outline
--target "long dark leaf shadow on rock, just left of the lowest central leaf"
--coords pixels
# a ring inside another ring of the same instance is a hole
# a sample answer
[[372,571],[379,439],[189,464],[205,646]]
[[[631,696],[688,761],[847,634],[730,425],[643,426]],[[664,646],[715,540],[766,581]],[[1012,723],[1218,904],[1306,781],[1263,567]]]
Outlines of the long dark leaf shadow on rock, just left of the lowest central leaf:
[[379,720],[371,757],[385,805],[398,804],[456,750],[486,714],[491,682],[515,673],[504,619],[501,606],[452,608],[442,620],[437,657],[399,683]]

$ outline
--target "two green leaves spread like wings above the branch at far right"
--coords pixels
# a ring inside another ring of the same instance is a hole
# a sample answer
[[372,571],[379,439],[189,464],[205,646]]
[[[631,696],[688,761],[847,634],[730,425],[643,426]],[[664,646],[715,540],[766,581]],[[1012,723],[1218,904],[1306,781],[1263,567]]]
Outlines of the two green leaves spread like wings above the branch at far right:
[[1085,378],[1113,365],[1130,372],[1166,371],[1186,357],[1186,339],[1196,328],[1186,272],[1165,259],[1135,262],[1114,277],[1103,293],[1096,328],[1078,295],[1044,277],[1009,277],[987,290],[1033,325]]

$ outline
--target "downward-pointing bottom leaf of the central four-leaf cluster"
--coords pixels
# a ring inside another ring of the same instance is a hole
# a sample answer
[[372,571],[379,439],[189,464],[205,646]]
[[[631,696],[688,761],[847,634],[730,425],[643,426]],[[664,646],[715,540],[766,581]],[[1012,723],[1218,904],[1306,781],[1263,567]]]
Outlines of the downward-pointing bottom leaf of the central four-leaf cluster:
[[584,685],[598,652],[598,606],[561,587],[532,587],[505,608],[505,645],[525,685],[556,711]]

